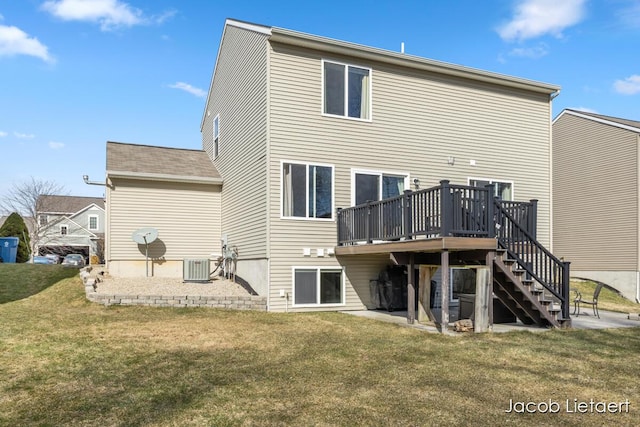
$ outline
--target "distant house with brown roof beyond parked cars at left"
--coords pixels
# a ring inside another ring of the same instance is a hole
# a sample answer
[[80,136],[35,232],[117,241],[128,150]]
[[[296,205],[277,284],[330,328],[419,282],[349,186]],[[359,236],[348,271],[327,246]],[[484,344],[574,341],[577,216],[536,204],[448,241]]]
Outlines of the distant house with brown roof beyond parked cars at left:
[[101,197],[44,195],[37,200],[35,253],[83,254],[103,262],[105,211]]

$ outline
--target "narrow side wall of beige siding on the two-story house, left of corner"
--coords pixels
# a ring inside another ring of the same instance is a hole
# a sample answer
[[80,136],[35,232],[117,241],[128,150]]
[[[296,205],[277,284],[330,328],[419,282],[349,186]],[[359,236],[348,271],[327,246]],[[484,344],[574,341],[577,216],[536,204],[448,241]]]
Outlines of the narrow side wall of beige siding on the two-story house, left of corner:
[[213,120],[220,115],[219,156],[224,183],[222,233],[239,260],[267,256],[266,35],[225,28],[202,127],[213,159]]

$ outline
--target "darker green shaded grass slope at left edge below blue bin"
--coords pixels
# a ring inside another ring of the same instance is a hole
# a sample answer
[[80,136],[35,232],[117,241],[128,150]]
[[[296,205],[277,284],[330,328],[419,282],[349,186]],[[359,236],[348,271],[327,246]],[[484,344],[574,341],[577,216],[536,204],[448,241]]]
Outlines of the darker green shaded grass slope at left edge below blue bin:
[[1,263],[0,304],[28,298],[77,274],[78,269],[61,265]]

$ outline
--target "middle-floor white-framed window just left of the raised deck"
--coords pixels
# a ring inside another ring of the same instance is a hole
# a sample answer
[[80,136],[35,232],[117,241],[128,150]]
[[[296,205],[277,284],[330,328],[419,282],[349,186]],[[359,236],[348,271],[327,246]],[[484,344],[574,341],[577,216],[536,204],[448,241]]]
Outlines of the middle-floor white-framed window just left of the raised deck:
[[282,163],[282,216],[333,218],[333,166]]

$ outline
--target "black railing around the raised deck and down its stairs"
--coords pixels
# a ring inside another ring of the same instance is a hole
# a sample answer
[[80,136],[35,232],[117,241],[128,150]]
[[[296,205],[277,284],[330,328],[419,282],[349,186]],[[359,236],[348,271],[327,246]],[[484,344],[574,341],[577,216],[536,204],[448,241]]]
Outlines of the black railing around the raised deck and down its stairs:
[[569,318],[569,263],[536,240],[537,200],[502,201],[493,186],[440,181],[385,200],[338,209],[338,245],[434,237],[497,238],[509,256],[562,303]]

